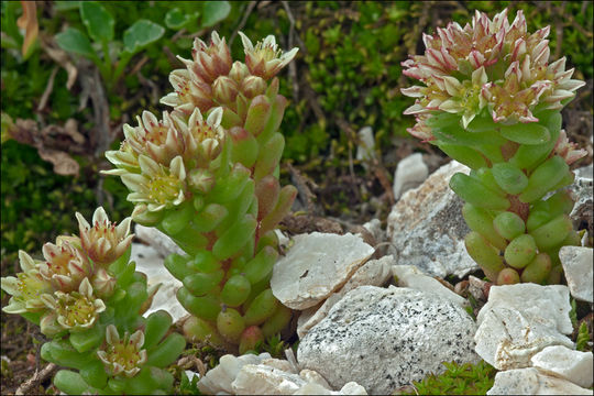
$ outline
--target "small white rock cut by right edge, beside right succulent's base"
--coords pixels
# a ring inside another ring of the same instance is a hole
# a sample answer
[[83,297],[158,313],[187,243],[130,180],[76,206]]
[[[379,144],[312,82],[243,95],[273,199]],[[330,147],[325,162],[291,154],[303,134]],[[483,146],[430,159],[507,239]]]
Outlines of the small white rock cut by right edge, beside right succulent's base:
[[594,302],[594,250],[582,246],[563,246],[559,251],[559,260],[563,265],[571,295],[579,300]]

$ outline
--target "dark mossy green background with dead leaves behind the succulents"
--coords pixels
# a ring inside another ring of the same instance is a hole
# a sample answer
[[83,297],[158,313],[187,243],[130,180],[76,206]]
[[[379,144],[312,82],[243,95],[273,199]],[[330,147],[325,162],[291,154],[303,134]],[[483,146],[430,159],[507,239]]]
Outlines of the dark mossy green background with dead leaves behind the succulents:
[[[98,173],[110,167],[102,153],[118,147],[122,124],[135,123],[142,110],[168,110],[158,99],[172,90],[169,72],[183,67],[175,55],[190,58],[194,37],[208,41],[212,30],[231,42],[234,58],[243,57],[239,30],[253,42],[274,34],[282,48],[299,46],[296,61],[279,75],[282,94],[290,100],[282,125],[284,156],[318,184],[322,215],[352,215],[385,193],[402,156],[433,152],[407,136],[414,120],[403,110],[411,98],[399,88],[410,81],[402,76],[400,62],[424,50],[421,32],[450,20],[464,24],[474,10],[492,16],[509,7],[513,20],[522,9],[530,32],[552,26],[551,58],[566,55],[574,78],[587,81],[564,117],[582,121],[565,128],[573,141],[588,143],[591,1],[80,3],[37,1],[25,14],[19,1],[1,4],[3,270],[12,271],[19,249],[38,256],[44,242],[76,232],[75,211],[90,218],[103,205],[113,220],[130,215],[127,189]],[[31,35],[35,25],[28,44],[25,31]],[[384,185],[353,160],[353,132],[366,125],[374,131]],[[351,194],[341,182],[346,176],[351,184],[366,179],[366,193]],[[290,183],[286,170],[283,177]],[[359,220],[373,216],[359,215]]]

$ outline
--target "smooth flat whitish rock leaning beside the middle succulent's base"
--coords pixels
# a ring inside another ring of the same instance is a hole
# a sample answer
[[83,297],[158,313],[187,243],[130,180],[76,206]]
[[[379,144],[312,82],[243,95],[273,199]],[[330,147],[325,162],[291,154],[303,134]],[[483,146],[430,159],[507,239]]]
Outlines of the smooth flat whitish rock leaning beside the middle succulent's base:
[[312,307],[340,287],[374,253],[352,233],[312,232],[294,238],[295,244],[273,268],[271,288],[293,309]]

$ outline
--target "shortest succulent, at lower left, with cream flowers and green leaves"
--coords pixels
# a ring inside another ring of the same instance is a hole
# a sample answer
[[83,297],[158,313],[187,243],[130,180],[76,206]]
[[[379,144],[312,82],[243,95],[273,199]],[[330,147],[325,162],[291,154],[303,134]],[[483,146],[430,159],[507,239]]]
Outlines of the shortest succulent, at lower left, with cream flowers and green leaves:
[[143,318],[156,288],[129,262],[130,218],[112,224],[103,208],[92,223],[76,213],[79,237],[58,237],[43,246],[44,261],[19,252],[21,273],[1,279],[10,294],[2,310],[19,314],[48,338],[41,355],[61,370],[54,385],[67,394],[167,394],[174,377],[163,367],[186,346],[166,336],[172,317]]

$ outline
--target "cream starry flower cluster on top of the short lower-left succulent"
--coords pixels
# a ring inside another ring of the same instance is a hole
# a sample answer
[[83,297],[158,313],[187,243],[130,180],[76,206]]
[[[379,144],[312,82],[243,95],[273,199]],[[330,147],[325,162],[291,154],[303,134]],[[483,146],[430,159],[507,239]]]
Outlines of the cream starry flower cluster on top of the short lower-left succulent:
[[106,310],[103,299],[113,294],[116,278],[108,266],[122,256],[133,234],[130,218],[112,224],[103,208],[92,217],[94,226],[76,213],[80,238],[58,237],[43,246],[45,261],[19,252],[22,273],[1,279],[12,295],[3,308],[9,314],[31,312],[40,318],[42,333],[54,337],[91,328]]

